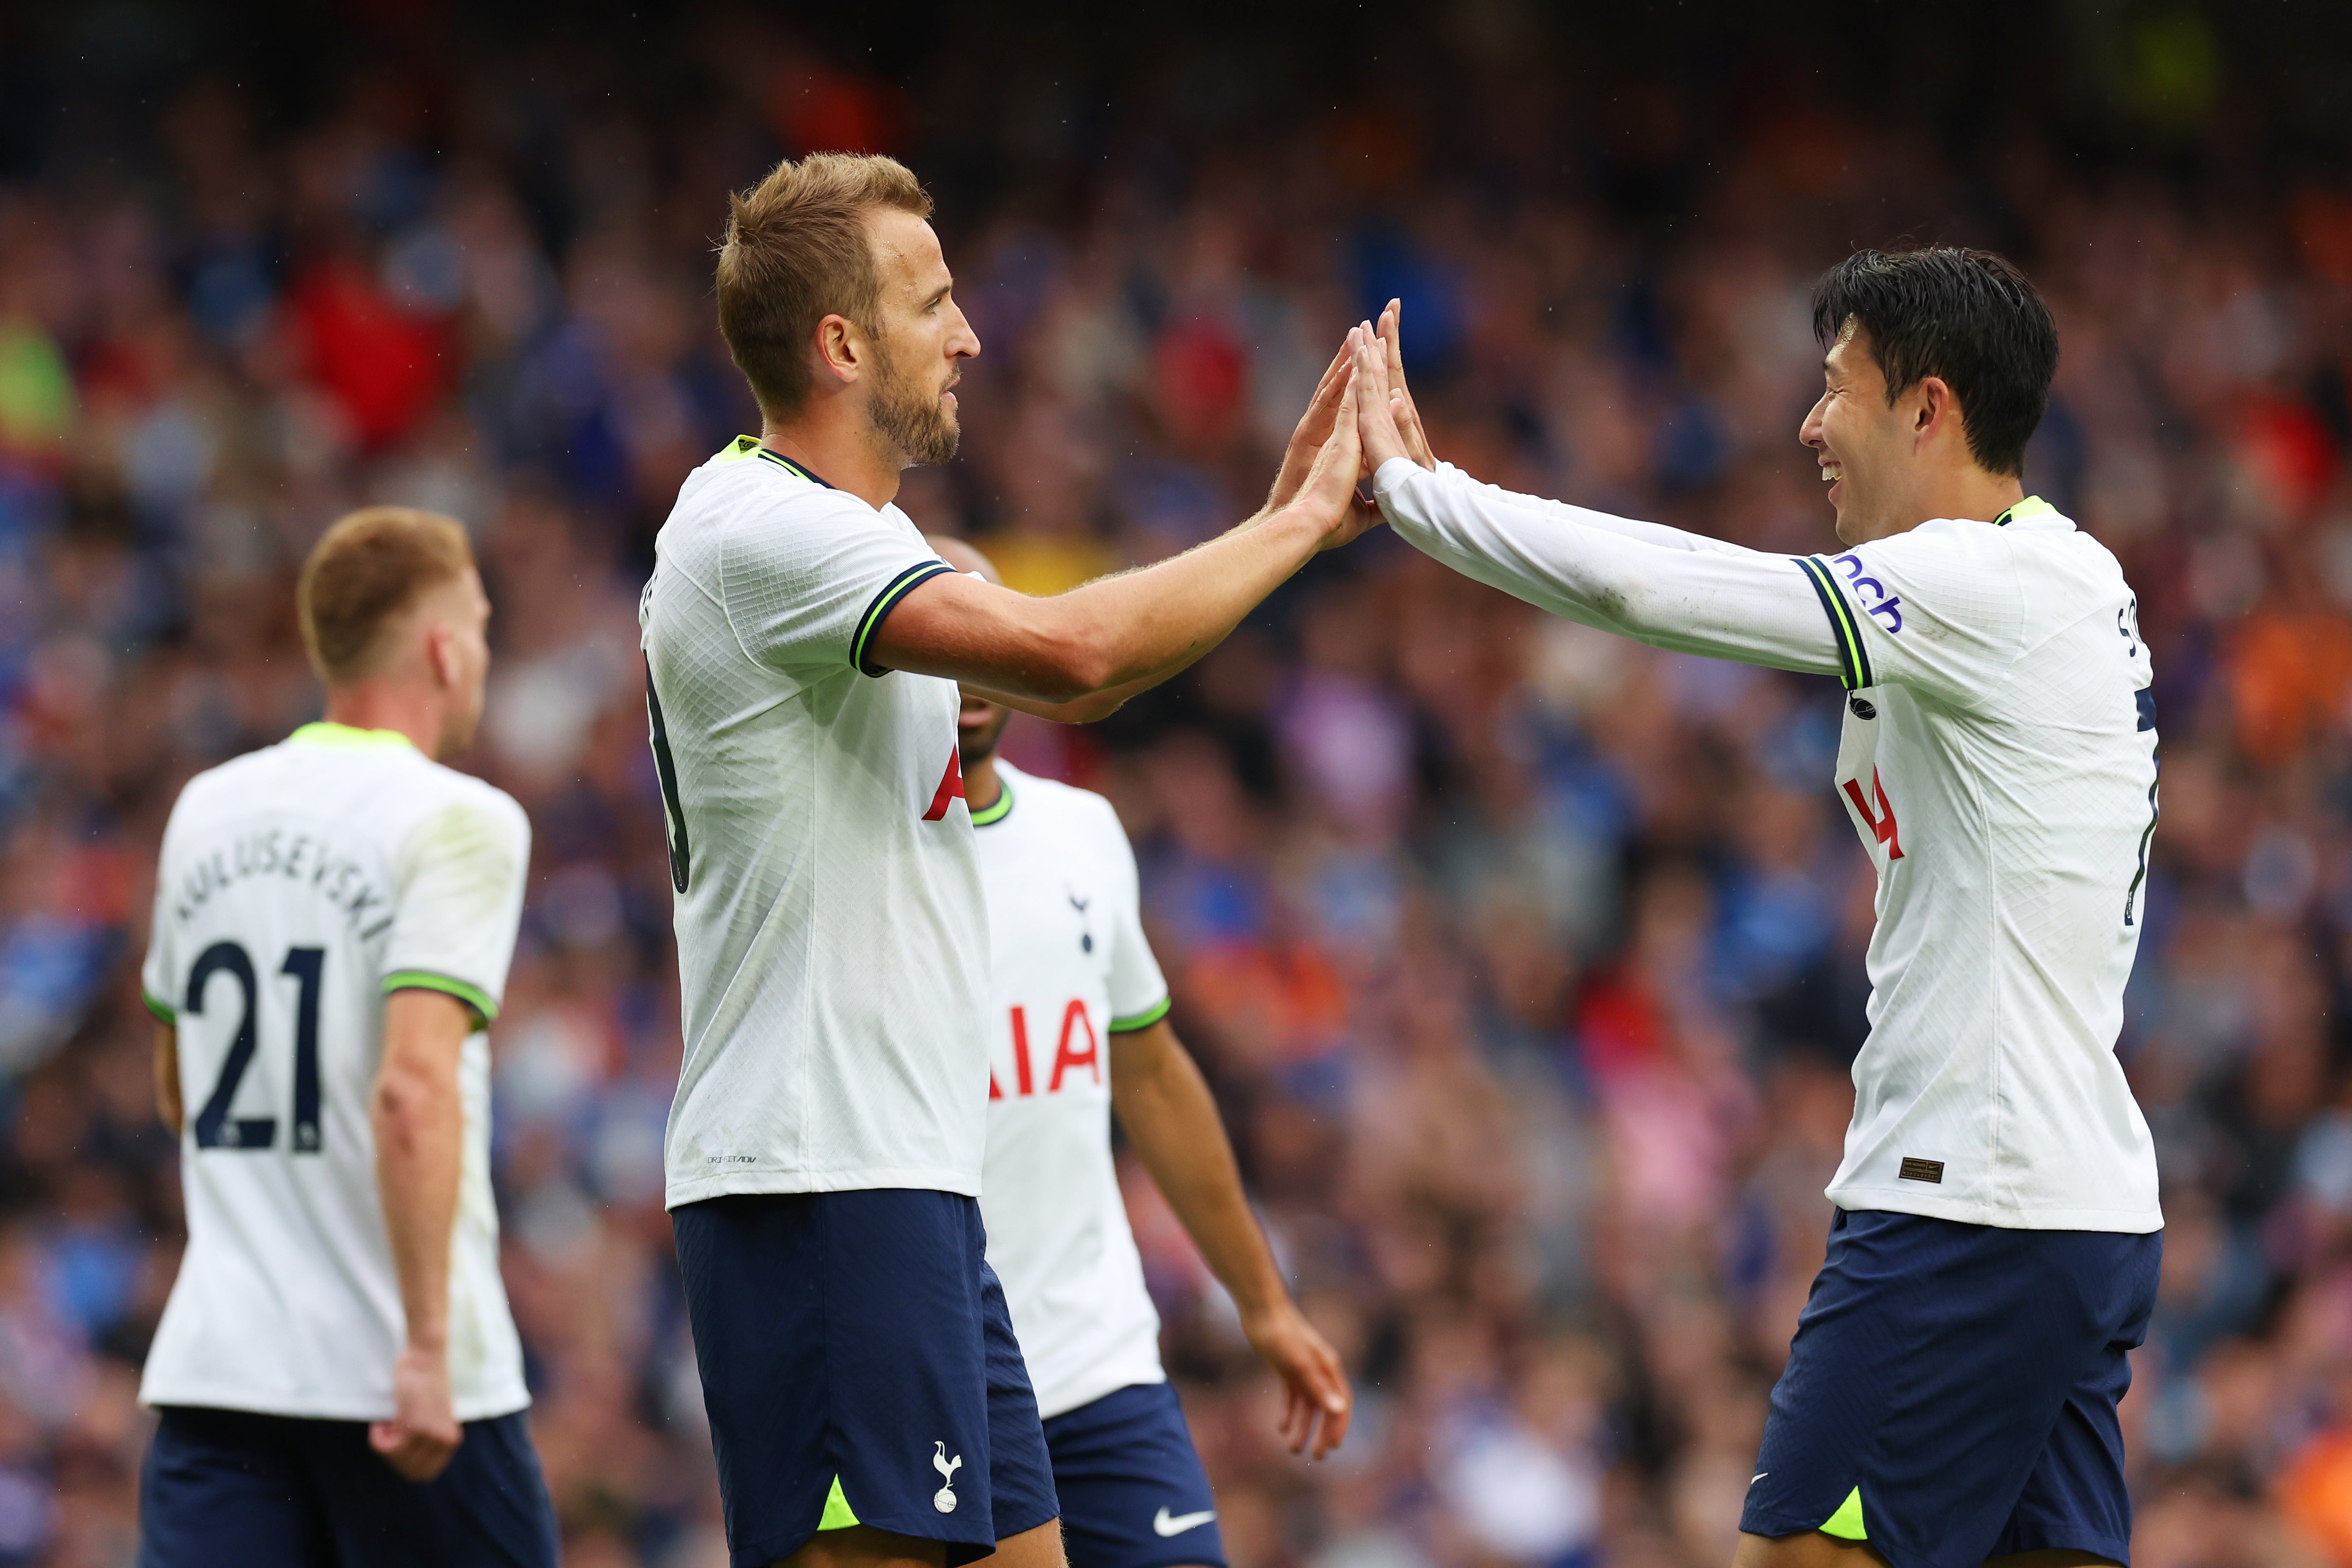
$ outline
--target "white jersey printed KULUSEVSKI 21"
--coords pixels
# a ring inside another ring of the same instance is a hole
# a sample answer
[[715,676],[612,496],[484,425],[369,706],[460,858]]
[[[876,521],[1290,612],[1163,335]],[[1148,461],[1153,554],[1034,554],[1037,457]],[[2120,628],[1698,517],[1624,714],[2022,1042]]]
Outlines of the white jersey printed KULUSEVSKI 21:
[[[181,790],[141,985],[179,1034],[188,1251],[143,1403],[393,1415],[407,1316],[367,1114],[383,997],[447,992],[487,1025],[529,856],[513,797],[393,731],[306,724]],[[449,1387],[459,1420],[485,1420],[529,1392],[499,1279],[482,1030],[459,1091]]]

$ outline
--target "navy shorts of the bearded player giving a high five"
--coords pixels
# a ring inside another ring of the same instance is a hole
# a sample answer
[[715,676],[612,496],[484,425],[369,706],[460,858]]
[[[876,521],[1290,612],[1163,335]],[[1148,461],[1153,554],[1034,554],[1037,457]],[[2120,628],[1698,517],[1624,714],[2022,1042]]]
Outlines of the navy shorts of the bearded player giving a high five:
[[851,1523],[969,1563],[1061,1512],[978,1199],[741,1194],[670,1225],[736,1568]]

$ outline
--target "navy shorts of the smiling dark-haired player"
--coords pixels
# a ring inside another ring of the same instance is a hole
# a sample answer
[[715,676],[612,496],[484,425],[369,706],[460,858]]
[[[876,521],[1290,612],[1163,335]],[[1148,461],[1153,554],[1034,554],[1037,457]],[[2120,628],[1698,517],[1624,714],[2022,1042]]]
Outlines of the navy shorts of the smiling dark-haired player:
[[2114,1406],[2161,1255],[2164,1232],[1839,1211],[1740,1530],[1867,1540],[1893,1568],[2131,1561]]

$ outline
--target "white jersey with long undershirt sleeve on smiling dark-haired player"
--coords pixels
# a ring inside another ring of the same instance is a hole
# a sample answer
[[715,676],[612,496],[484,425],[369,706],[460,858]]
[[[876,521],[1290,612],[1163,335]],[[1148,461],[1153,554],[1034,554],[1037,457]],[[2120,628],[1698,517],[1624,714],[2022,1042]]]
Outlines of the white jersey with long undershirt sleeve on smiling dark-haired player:
[[2117,559],[2056,508],[1790,559],[1425,473],[1414,545],[1656,646],[1837,675],[1832,788],[1877,867],[1842,1208],[2150,1232],[2114,1039],[2154,832],[2152,668]]

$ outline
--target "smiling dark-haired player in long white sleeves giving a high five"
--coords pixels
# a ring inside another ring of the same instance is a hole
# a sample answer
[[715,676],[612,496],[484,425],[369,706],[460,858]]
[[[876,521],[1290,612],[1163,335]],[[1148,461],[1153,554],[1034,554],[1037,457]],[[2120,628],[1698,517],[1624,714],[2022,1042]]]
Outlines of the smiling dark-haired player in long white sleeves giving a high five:
[[1583,625],[1846,686],[1832,788],[1877,867],[1830,1253],[1771,1396],[1740,1568],[2129,1561],[2117,1401],[2164,1218],[2114,1060],[2157,823],[2114,557],[2023,489],[2058,367],[1999,256],[1860,252],[1813,296],[1799,440],[1842,552],[1766,555],[1437,465],[1395,306],[1359,327],[1390,527]]

